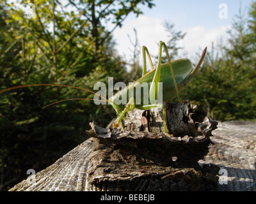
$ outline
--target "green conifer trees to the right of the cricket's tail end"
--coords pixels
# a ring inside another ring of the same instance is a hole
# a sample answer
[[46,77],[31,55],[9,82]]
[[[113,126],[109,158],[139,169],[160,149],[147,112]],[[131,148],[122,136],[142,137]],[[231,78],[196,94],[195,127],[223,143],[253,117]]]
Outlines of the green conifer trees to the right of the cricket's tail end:
[[182,92],[182,98],[200,103],[212,119],[255,120],[255,11],[252,3],[249,19],[239,12],[228,32],[228,45],[221,47],[223,55],[215,55],[215,48],[208,52],[193,82]]

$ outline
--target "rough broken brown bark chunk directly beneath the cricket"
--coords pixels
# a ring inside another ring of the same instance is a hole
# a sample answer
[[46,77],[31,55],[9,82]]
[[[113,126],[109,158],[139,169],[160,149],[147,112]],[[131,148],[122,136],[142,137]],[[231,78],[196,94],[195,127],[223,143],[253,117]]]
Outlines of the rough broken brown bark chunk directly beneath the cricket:
[[[156,186],[172,191],[172,186],[180,182],[186,184],[179,186],[182,191],[217,186],[218,168],[212,167],[211,174],[198,165],[208,152],[209,136],[217,122],[209,120],[205,113],[193,112],[196,106],[190,103],[165,106],[172,136],[161,133],[161,112],[133,110],[124,120],[125,131],[91,124],[92,130],[87,133],[99,139],[101,147],[92,154],[88,168],[91,184],[100,190],[115,191],[134,190],[134,182],[143,182],[141,189],[153,191]],[[164,180],[168,185],[163,186]]]

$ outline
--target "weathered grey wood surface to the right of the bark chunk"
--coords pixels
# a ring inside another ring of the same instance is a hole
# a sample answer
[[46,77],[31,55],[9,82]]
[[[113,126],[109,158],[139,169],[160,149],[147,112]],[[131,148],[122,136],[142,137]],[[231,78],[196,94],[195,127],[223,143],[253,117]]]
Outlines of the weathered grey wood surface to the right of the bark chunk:
[[256,191],[256,122],[219,122],[213,134],[214,145],[199,163],[221,168],[216,191]]

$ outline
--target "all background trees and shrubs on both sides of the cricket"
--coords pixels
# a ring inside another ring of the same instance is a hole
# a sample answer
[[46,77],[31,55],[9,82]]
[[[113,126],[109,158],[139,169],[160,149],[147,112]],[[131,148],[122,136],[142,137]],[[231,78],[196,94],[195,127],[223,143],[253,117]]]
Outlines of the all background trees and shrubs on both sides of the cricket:
[[[19,1],[26,6],[28,1]],[[141,75],[138,41],[134,45],[131,73],[115,50],[111,33],[122,26],[127,15],[142,12],[138,5],[152,8],[152,0],[130,1],[30,1],[36,19],[24,9],[0,0],[0,87],[25,84],[66,84],[93,90],[95,82],[114,77],[131,82]],[[67,4],[72,10],[67,9]],[[255,52],[256,3],[250,18],[241,12],[229,31],[225,47],[208,51],[204,65],[185,89],[182,99],[200,103],[216,120],[253,120],[256,112]],[[113,22],[110,31],[104,22]],[[165,24],[166,42],[175,57],[177,41],[184,33]],[[129,77],[127,77],[129,76]],[[43,108],[56,100],[93,98],[90,92],[64,87],[29,87],[0,95],[0,190],[6,191],[86,140],[85,129],[96,120],[106,126],[115,111],[90,101],[67,101]]]

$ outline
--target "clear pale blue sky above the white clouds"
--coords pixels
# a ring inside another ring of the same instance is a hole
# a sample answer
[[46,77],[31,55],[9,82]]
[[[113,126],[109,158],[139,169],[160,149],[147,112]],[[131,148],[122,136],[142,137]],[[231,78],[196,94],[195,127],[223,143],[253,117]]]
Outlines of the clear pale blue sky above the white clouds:
[[[239,11],[239,4],[242,8],[250,6],[252,0],[157,0],[156,6],[149,9],[141,6],[144,15],[159,17],[163,20],[173,22],[177,29],[186,29],[196,25],[204,26],[205,29],[229,25],[230,20]],[[219,5],[227,4],[228,18],[219,18]]]

